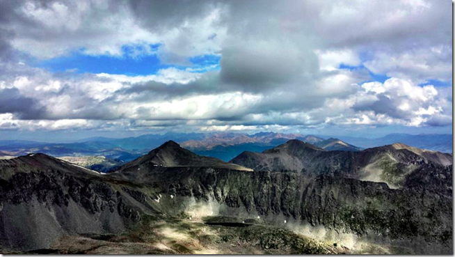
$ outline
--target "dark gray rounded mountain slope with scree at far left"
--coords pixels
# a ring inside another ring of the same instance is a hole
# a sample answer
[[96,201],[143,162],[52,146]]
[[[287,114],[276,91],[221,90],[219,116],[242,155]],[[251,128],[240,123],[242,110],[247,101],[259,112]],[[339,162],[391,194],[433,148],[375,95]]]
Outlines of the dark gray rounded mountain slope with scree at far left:
[[[3,162],[3,167],[14,169],[18,161],[10,161]],[[3,249],[47,248],[67,233],[118,233],[141,218],[140,209],[125,198],[125,192],[92,176],[93,171],[46,156],[19,161],[20,169],[33,164],[35,170],[0,179]]]

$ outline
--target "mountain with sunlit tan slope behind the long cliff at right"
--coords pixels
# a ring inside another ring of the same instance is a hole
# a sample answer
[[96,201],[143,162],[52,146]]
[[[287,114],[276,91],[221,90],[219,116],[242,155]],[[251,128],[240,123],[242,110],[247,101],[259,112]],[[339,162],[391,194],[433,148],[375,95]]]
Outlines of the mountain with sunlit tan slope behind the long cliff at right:
[[230,162],[255,171],[294,171],[308,176],[333,174],[401,187],[406,176],[417,169],[431,164],[452,165],[452,155],[422,150],[420,153],[402,144],[358,152],[325,151],[302,141],[290,140],[262,153],[241,153]]

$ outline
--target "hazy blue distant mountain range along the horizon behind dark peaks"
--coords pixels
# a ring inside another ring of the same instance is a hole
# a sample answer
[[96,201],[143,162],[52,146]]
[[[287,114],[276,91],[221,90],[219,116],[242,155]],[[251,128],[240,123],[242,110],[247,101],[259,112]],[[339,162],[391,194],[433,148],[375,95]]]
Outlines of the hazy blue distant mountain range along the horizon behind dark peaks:
[[390,134],[379,139],[356,137],[319,137],[314,135],[284,134],[274,132],[245,133],[166,133],[145,134],[139,137],[110,139],[93,137],[74,143],[45,143],[35,141],[0,141],[0,157],[45,153],[55,157],[104,156],[113,162],[129,162],[166,141],[181,143],[184,148],[199,155],[216,157],[227,162],[244,151],[262,152],[289,139],[312,143],[325,150],[358,151],[364,148],[404,143],[427,150],[452,153],[451,134]]

